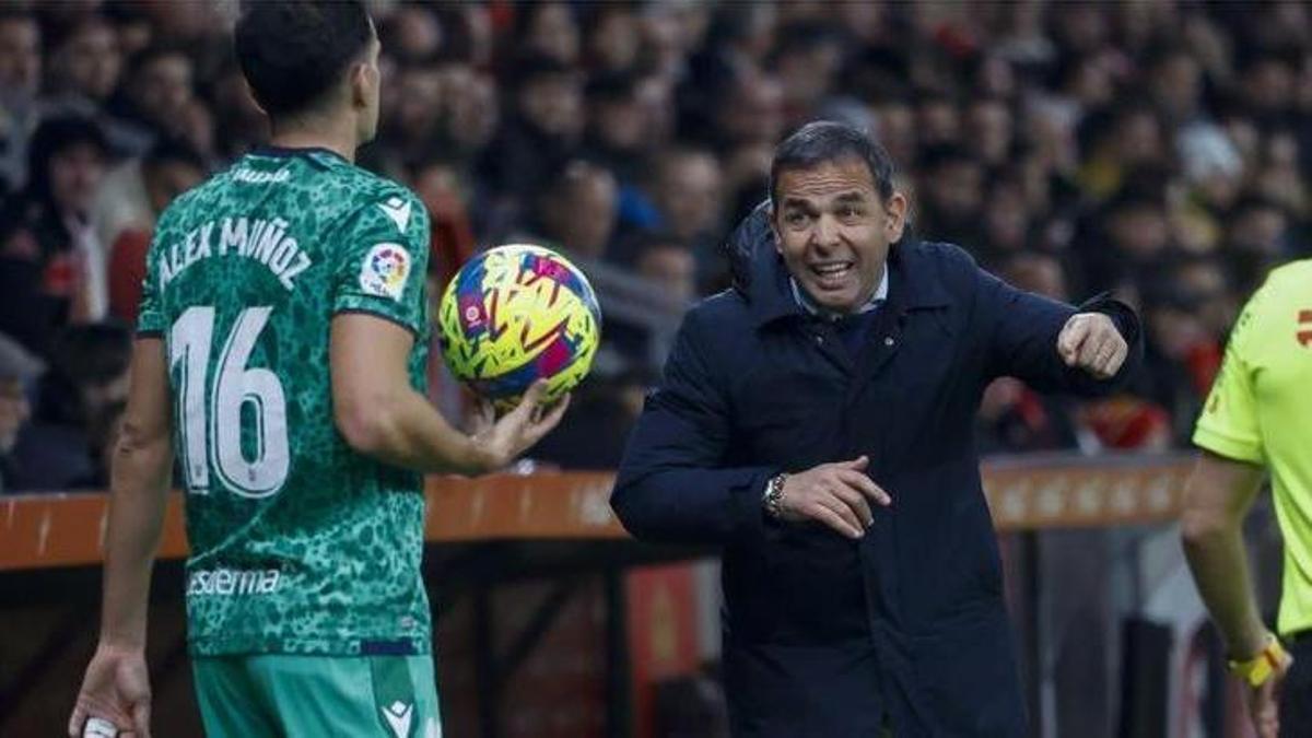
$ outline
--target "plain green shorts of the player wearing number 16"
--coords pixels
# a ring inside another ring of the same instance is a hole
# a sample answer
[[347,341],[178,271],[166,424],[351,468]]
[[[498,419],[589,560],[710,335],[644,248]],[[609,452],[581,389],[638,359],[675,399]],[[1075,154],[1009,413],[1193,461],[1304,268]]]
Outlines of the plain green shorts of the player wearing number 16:
[[433,658],[193,657],[209,738],[441,738]]

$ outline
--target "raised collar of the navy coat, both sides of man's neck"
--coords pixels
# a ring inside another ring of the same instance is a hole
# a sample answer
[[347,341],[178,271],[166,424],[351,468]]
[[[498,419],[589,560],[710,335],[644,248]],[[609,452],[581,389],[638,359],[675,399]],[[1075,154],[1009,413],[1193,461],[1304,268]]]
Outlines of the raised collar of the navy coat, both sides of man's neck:
[[[752,280],[744,297],[757,327],[790,316],[804,316],[792,298],[789,271],[783,259],[770,243],[757,244],[752,259]],[[904,239],[888,250],[890,281],[893,288],[891,303],[901,310],[946,307],[951,303],[947,289],[938,276],[933,251],[916,240]]]

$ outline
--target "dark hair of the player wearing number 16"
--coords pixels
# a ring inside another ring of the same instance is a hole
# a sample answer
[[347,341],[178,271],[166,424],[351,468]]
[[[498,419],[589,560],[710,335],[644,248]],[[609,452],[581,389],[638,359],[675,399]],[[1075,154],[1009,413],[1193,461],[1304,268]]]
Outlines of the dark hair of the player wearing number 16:
[[256,101],[278,117],[320,102],[373,33],[361,0],[249,1],[234,45]]

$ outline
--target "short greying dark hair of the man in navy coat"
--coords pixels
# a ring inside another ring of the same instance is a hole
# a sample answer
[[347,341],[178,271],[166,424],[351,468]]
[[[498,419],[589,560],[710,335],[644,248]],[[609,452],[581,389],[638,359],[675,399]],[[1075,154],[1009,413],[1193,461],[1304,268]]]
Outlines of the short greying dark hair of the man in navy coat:
[[859,159],[870,169],[879,197],[893,194],[893,162],[883,146],[866,131],[834,121],[813,121],[774,150],[770,162],[770,201],[778,201],[779,176],[786,171],[813,169],[829,162]]

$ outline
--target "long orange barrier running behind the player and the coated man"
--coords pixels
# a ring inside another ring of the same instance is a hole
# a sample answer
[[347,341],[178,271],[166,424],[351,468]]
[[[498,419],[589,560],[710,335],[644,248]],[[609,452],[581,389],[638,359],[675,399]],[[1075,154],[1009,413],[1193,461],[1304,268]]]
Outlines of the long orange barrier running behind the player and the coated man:
[[[1000,531],[1152,524],[1179,511],[1190,456],[1018,457],[984,465]],[[622,538],[610,473],[430,477],[425,534],[433,542],[496,538]],[[169,496],[163,558],[186,554],[182,496]],[[59,492],[0,498],[0,571],[97,563],[108,496]]]

